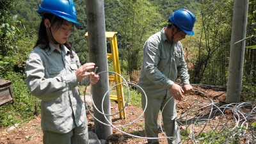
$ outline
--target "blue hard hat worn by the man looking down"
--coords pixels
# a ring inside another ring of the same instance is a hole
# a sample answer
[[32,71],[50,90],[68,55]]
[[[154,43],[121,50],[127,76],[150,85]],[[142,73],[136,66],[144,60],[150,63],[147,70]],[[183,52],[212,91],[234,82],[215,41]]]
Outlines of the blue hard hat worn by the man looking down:
[[194,35],[194,25],[196,22],[195,15],[186,9],[176,10],[170,17],[169,20],[178,26],[187,35]]

